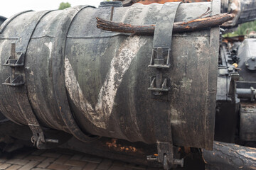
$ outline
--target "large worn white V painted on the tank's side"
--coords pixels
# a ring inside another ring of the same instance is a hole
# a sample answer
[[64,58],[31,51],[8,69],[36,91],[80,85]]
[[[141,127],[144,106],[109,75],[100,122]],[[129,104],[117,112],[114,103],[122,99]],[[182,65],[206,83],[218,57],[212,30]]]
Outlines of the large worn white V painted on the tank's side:
[[98,128],[107,128],[107,123],[114,106],[114,98],[117,89],[122,83],[125,72],[129,69],[132,60],[137,55],[140,47],[146,43],[146,39],[139,36],[130,36],[121,45],[110,64],[110,70],[100,89],[97,104],[92,108],[91,103],[87,101],[82,94],[82,90],[75,77],[75,72],[67,57],[65,57],[65,85],[70,98],[75,106],[80,108],[85,117]]

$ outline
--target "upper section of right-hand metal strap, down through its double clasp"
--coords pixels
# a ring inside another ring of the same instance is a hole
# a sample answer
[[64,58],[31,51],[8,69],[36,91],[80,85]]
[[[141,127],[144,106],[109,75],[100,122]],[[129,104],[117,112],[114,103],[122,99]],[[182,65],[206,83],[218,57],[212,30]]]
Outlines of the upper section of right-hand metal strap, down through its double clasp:
[[[171,67],[171,38],[176,11],[181,2],[166,3],[162,6],[154,30],[154,42],[149,67],[156,69],[156,77],[151,79],[149,91],[161,96],[170,90],[169,78],[162,79],[163,70]],[[162,81],[163,80],[163,81]],[[153,97],[154,98],[154,97]]]

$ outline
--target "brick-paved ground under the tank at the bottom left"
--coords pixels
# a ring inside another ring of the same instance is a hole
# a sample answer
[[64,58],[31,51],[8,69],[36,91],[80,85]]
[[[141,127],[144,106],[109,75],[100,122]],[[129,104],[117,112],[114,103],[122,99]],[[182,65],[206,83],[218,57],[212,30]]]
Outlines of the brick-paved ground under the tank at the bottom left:
[[0,169],[6,170],[139,170],[154,168],[95,157],[66,149],[38,150],[23,148],[2,154]]

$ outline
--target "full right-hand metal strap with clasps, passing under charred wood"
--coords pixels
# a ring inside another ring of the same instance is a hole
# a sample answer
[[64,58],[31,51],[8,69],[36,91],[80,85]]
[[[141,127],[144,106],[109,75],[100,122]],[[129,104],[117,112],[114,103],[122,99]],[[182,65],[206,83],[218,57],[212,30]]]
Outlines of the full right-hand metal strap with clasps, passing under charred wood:
[[[163,70],[171,67],[171,38],[174,26],[174,19],[176,11],[181,2],[166,3],[162,6],[160,15],[156,21],[156,28],[154,30],[154,42],[151,63],[149,67],[156,68],[156,76],[151,79],[151,85],[149,90],[153,91],[153,94],[168,95],[169,77],[165,77]],[[167,57],[166,57],[167,56]],[[165,59],[167,58],[166,62]],[[164,80],[164,81],[163,81]],[[183,159],[174,159],[174,147],[171,134],[171,116],[169,113],[170,103],[169,101],[161,100],[154,101],[155,110],[154,114],[154,126],[156,133],[156,144],[158,149],[158,156],[149,156],[148,160],[157,160],[164,164],[164,169],[170,169],[174,164],[180,164],[183,166]]]

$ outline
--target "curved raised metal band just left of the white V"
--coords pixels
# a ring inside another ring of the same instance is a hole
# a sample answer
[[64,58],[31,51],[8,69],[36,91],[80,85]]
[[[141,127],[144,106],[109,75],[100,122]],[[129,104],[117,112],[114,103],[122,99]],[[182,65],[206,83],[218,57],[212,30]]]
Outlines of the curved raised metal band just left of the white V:
[[[55,60],[53,60],[53,88],[55,92],[55,98],[59,106],[60,115],[63,118],[63,121],[65,125],[67,126],[68,130],[70,130],[70,133],[74,135],[78,140],[81,140],[83,142],[92,142],[94,140],[97,140],[98,137],[90,137],[86,135],[80,128],[78,127],[77,123],[75,122],[75,119],[73,118],[73,114],[70,111],[70,106],[68,103],[68,95],[66,93],[65,89],[65,79],[63,78],[64,75],[64,57],[65,57],[65,45],[66,45],[66,39],[68,35],[68,30],[70,28],[71,23],[73,22],[75,16],[82,11],[82,9],[92,7],[94,6],[78,6],[78,11],[68,11],[68,15],[65,19],[63,19],[62,23],[59,25],[59,32],[58,35],[56,35],[55,40],[55,48],[58,50],[53,50],[55,53],[53,54],[53,58],[55,57]],[[67,26],[68,28],[63,28],[63,26]],[[58,58],[59,57],[59,58]],[[59,86],[58,86],[59,85]],[[62,91],[60,90],[62,89]],[[60,97],[60,94],[63,95],[64,98]],[[63,109],[64,108],[64,109]]]

